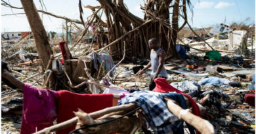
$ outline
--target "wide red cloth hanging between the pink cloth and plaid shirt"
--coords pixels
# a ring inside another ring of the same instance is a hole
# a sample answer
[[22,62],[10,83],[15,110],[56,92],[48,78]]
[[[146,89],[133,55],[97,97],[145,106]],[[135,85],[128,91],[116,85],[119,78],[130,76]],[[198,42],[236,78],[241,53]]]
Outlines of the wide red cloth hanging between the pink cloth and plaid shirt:
[[[78,108],[84,112],[90,113],[107,107],[112,107],[113,105],[112,93],[79,94],[62,90],[58,91],[58,97],[58,124],[74,118],[75,114],[73,111],[77,111]],[[75,126],[68,127],[57,131],[57,134],[66,134],[74,129]]]

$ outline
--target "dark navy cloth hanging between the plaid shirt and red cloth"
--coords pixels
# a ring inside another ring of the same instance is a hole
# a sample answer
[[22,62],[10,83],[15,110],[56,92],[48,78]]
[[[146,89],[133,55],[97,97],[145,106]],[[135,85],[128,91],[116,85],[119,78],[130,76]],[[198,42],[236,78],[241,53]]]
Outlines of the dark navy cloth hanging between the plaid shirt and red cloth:
[[[186,106],[186,101],[184,100],[183,95],[181,95],[180,93],[167,93],[165,94],[165,97],[168,97],[170,99],[173,99],[174,101],[176,101],[177,103],[179,103],[179,105],[182,107],[182,109],[188,109],[188,107]],[[186,126],[188,127],[190,134],[195,134],[195,129],[194,127],[190,126],[190,124],[186,123]],[[184,126],[183,123],[181,124],[181,126],[179,126],[179,128],[177,129],[177,131],[175,133],[184,133]]]

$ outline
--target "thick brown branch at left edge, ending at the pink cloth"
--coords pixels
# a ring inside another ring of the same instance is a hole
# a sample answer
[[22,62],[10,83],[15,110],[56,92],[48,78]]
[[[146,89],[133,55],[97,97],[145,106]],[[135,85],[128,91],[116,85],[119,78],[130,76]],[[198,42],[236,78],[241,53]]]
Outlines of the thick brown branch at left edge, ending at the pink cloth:
[[7,71],[6,69],[3,69],[2,77],[6,78],[12,85],[16,86],[18,90],[23,90],[24,83],[12,76],[12,74],[9,73],[9,71]]

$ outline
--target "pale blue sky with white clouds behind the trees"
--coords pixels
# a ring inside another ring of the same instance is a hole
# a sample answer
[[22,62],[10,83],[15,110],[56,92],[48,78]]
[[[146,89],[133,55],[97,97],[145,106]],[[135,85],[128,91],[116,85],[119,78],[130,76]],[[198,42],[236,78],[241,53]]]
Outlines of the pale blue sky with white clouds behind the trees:
[[[7,1],[7,0],[5,0]],[[41,3],[42,5],[41,5]],[[144,13],[140,5],[144,5],[143,0],[123,0],[129,11],[140,18]],[[146,0],[145,0],[146,1]],[[244,22],[247,25],[255,24],[255,0],[191,0],[193,5],[193,15],[190,10],[188,22],[192,27],[211,27],[221,23],[232,24],[232,22]],[[8,1],[7,1],[8,2]],[[52,12],[59,16],[79,20],[78,0],[34,0],[38,10]],[[20,0],[9,0],[15,7],[22,7]],[[100,5],[96,0],[81,1],[82,5]],[[44,6],[45,5],[45,6]],[[45,8],[46,7],[46,8]],[[6,16],[5,14],[22,13],[24,10],[1,6],[1,32],[5,31],[31,31],[25,14]],[[91,15],[91,10],[83,8],[83,16]],[[64,20],[54,18],[46,14],[41,14],[43,25],[46,31],[62,32]],[[182,18],[179,18],[179,25],[182,25]],[[103,19],[104,20],[104,19]]]

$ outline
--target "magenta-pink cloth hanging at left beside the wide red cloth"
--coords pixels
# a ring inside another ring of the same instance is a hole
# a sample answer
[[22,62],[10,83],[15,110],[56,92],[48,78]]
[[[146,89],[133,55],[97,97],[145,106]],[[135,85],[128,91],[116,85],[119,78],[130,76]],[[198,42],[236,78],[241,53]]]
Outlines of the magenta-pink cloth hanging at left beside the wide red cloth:
[[53,124],[58,93],[24,84],[21,134],[34,133]]

